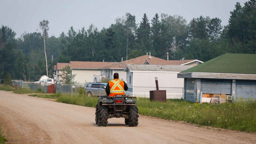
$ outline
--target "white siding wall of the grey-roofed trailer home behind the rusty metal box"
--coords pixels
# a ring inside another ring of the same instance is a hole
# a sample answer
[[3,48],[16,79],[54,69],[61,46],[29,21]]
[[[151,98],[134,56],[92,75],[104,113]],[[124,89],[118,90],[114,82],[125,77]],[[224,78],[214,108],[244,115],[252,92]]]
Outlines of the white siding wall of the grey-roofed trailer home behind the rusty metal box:
[[[127,82],[131,73],[127,72]],[[155,77],[158,79],[159,90],[166,90],[166,98],[182,98],[184,79],[177,78],[177,73],[162,72],[133,72],[133,92],[129,95],[149,98],[149,91],[156,90]]]

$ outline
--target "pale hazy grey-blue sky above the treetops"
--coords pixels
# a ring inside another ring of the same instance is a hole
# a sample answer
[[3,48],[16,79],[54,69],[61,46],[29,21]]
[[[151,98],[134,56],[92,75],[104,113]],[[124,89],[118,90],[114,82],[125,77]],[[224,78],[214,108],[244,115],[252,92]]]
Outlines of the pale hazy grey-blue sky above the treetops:
[[[247,0],[249,1],[249,0]],[[35,32],[39,28],[39,21],[49,20],[49,36],[59,37],[66,34],[71,26],[74,29],[87,29],[94,24],[98,29],[108,28],[115,23],[117,17],[131,13],[136,16],[136,23],[140,23],[143,14],[151,19],[156,13],[161,15],[183,16],[187,23],[193,18],[209,16],[218,17],[222,25],[227,25],[230,11],[236,2],[242,6],[246,0],[155,0],[155,1],[14,1],[0,0],[0,25],[7,25],[20,37],[23,32]]]

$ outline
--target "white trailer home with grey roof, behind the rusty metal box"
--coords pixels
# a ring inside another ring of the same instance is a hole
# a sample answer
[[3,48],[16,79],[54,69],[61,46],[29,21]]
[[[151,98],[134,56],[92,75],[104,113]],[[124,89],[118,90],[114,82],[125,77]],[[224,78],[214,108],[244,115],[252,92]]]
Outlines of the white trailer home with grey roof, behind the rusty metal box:
[[127,94],[148,97],[149,91],[156,90],[155,77],[158,79],[159,90],[166,90],[166,98],[182,98],[184,79],[177,74],[194,66],[190,65],[148,65],[127,64]]

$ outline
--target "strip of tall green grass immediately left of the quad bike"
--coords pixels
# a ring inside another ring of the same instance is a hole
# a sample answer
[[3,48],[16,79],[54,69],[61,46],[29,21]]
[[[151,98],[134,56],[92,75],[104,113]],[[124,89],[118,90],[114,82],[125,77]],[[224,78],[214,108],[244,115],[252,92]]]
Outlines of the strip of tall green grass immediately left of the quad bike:
[[86,95],[61,95],[57,102],[73,104],[73,105],[81,105],[88,107],[96,107],[98,104],[98,97],[94,96],[86,96]]

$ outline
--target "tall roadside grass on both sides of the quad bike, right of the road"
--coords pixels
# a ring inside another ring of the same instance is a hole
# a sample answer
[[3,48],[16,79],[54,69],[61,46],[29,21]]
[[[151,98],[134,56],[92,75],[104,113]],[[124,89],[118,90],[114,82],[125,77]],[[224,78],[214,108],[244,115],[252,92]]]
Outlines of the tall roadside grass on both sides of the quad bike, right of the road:
[[[95,107],[98,97],[61,95],[57,102]],[[183,99],[167,99],[166,103],[137,100],[139,114],[219,129],[256,132],[256,99],[233,98],[233,103],[194,103]]]

